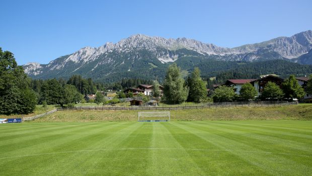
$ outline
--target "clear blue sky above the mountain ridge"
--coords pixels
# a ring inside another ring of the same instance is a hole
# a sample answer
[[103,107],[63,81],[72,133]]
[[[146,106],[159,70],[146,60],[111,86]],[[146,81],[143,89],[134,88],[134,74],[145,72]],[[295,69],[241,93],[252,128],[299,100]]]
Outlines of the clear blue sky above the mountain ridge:
[[14,1],[0,3],[0,47],[48,63],[133,34],[223,47],[312,30],[312,1]]

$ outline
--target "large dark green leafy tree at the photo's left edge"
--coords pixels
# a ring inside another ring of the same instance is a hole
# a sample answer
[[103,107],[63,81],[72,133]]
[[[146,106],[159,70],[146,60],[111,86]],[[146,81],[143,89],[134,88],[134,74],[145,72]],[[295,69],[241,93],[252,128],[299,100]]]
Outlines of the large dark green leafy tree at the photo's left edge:
[[29,114],[35,110],[37,97],[30,82],[13,53],[0,48],[0,114]]

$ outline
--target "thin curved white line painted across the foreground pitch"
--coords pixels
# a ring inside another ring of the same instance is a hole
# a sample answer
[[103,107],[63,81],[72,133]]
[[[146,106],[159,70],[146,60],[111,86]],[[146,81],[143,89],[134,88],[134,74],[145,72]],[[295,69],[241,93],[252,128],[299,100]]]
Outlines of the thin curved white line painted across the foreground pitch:
[[228,152],[248,152],[248,153],[264,153],[264,154],[284,154],[284,155],[296,155],[296,156],[306,156],[312,157],[312,155],[304,154],[292,154],[292,153],[278,153],[278,152],[266,152],[266,151],[247,151],[247,150],[222,150],[222,149],[200,149],[200,148],[107,148],[107,149],[94,149],[94,150],[73,150],[73,151],[60,151],[51,153],[37,153],[28,155],[18,155],[2,157],[0,159],[17,158],[17,157],[27,157],[27,156],[38,156],[38,155],[48,155],[48,154],[61,154],[61,153],[74,153],[74,152],[92,152],[92,151],[109,151],[109,150],[193,150],[193,151],[228,151]]

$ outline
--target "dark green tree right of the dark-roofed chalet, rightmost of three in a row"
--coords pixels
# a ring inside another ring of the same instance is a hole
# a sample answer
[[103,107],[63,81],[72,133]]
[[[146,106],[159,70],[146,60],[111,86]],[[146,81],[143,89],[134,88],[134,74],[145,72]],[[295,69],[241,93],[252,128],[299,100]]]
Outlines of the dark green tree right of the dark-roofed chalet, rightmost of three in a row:
[[285,98],[301,99],[304,97],[304,90],[301,85],[299,85],[294,75],[290,75],[289,78],[282,83],[282,90],[285,94]]

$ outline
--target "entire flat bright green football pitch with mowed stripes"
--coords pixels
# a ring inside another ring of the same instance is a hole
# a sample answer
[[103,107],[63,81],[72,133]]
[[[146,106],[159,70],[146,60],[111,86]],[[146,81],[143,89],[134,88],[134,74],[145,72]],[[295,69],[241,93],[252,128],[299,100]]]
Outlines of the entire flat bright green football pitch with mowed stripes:
[[1,124],[0,163],[0,175],[312,175],[312,122]]

